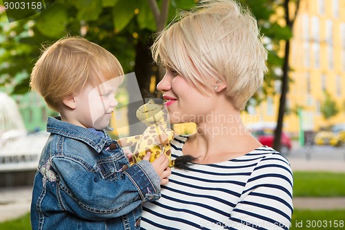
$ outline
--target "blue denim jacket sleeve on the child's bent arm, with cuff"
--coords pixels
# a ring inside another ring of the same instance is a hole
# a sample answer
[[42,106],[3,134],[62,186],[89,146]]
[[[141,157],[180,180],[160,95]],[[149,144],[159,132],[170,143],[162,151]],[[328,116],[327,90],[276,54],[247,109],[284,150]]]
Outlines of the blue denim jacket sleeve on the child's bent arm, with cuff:
[[88,220],[115,218],[160,198],[160,179],[148,161],[141,161],[117,173],[117,180],[99,178],[75,159],[52,157],[59,175],[61,207]]

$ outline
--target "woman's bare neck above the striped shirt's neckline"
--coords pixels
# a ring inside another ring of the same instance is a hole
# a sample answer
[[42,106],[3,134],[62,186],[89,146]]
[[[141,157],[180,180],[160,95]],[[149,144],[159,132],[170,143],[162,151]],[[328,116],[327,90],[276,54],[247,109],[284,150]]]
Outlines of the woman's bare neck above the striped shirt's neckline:
[[197,157],[196,163],[210,164],[242,156],[259,146],[242,124],[240,114],[229,113],[213,122],[197,123],[197,132],[187,140],[183,151]]

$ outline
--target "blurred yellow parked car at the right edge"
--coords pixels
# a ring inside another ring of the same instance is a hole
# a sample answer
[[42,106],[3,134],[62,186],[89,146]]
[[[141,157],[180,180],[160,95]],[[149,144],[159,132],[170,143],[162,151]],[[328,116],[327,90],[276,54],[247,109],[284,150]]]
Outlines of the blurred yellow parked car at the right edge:
[[341,146],[345,144],[345,124],[335,124],[323,128],[315,135],[314,142],[317,145]]

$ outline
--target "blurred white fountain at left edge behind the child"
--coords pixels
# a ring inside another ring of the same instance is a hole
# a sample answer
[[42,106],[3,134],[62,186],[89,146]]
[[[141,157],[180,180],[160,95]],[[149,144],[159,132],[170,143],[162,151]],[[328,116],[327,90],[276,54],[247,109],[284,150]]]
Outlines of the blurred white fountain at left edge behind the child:
[[32,184],[46,131],[28,133],[14,100],[0,92],[0,186]]

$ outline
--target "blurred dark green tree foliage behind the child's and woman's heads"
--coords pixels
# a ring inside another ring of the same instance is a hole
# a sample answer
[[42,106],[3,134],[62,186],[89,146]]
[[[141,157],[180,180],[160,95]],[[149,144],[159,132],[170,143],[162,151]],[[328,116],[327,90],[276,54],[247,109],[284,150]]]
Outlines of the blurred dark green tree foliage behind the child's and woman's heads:
[[[29,90],[30,72],[39,57],[41,44],[51,44],[66,35],[85,37],[114,54],[125,73],[135,72],[141,93],[152,91],[152,76],[159,81],[157,66],[152,63],[149,47],[157,32],[157,21],[150,2],[161,10],[168,4],[170,23],[177,9],[186,9],[198,3],[196,0],[55,0],[43,1],[46,10],[20,19],[17,10],[8,22],[6,12],[0,12],[0,87],[14,86],[12,93]],[[250,102],[259,104],[267,94],[273,94],[273,80],[281,77],[282,58],[278,57],[279,41],[289,39],[288,27],[280,26],[274,16],[279,1],[242,0],[252,10],[268,49],[268,73],[265,86]],[[162,19],[164,20],[164,19]],[[152,93],[152,92],[151,92]]]

